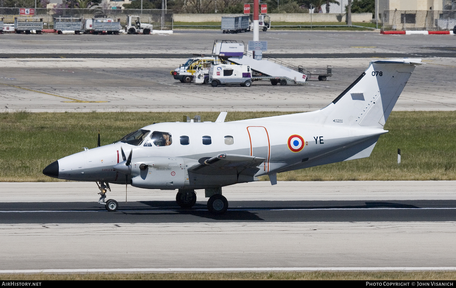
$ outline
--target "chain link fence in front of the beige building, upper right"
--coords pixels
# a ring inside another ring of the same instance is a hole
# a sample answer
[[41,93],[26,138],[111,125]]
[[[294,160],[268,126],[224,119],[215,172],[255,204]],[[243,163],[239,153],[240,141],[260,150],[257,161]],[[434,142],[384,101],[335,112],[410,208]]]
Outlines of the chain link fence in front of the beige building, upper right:
[[385,10],[382,30],[452,30],[456,10]]

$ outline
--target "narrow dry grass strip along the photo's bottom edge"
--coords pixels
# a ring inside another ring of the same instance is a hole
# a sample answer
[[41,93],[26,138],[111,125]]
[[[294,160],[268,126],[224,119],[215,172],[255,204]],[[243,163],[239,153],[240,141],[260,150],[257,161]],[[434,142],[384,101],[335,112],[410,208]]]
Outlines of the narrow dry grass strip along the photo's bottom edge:
[[1,274],[0,280],[454,280],[454,271]]

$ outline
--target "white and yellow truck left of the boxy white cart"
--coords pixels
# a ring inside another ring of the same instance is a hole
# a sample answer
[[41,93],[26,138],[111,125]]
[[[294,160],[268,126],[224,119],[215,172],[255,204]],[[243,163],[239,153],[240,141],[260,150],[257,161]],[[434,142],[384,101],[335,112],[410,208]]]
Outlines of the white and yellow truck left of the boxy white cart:
[[174,79],[182,83],[202,83],[209,82],[209,69],[211,64],[219,64],[221,61],[217,56],[209,57],[192,57],[188,58],[187,62],[172,70],[170,74]]

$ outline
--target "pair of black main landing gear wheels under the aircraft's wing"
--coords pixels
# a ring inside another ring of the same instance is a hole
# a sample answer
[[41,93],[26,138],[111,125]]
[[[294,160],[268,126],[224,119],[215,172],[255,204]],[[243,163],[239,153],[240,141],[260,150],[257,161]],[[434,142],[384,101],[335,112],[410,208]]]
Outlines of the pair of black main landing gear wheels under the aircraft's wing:
[[[209,212],[215,215],[221,215],[228,210],[228,200],[222,195],[221,187],[208,188],[204,194],[206,197],[209,197],[207,201],[207,210]],[[176,202],[182,208],[192,208],[197,202],[197,194],[192,189],[179,189],[179,192],[176,194]]]

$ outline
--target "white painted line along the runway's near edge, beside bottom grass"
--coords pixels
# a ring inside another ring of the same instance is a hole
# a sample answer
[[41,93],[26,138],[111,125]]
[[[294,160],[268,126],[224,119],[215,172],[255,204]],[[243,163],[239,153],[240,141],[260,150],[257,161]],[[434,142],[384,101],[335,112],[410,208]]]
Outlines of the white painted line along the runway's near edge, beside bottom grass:
[[456,270],[456,267],[229,267],[229,268],[113,268],[113,269],[26,269],[0,273],[101,273],[101,272],[235,272],[235,271],[416,271]]

